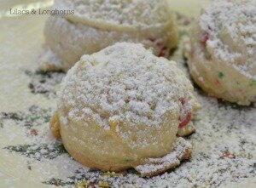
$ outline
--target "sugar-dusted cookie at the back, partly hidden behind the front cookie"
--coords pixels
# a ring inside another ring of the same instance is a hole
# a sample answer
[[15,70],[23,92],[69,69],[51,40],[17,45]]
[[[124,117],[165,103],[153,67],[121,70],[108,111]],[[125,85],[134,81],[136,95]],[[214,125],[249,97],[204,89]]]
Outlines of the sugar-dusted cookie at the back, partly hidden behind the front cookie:
[[83,54],[116,42],[143,43],[167,56],[177,44],[177,26],[166,0],[55,0],[56,9],[74,14],[50,16],[44,28],[43,71],[67,71]]

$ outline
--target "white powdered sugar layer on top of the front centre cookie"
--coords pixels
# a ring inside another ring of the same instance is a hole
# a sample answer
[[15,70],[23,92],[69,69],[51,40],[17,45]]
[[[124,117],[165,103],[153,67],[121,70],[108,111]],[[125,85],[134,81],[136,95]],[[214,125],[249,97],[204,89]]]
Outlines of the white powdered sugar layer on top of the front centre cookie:
[[[94,117],[109,122],[159,125],[168,111],[195,105],[193,87],[174,61],[158,58],[142,44],[116,43],[84,55],[61,83],[61,105],[72,106],[71,119]],[[180,98],[188,100],[186,105]],[[60,106],[61,108],[62,106]]]

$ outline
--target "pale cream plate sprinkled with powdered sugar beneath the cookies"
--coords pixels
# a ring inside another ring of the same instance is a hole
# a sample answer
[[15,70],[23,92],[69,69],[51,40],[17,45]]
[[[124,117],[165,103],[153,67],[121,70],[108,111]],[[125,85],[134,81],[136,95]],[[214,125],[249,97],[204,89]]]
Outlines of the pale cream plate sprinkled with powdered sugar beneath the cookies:
[[[1,2],[3,7],[0,9],[15,6],[16,2]],[[174,2],[175,9],[191,15],[198,14],[198,9],[192,8],[201,4],[201,1],[189,4],[193,2],[190,0]],[[180,24],[189,23],[189,18],[179,17]],[[227,104],[208,97],[200,89],[196,89],[202,106],[194,119],[196,133],[187,139],[192,142],[194,151],[189,161],[183,162],[179,168],[143,179],[132,169],[106,174],[73,161],[61,142],[55,141],[49,133],[55,91],[65,74],[34,71],[44,42],[45,19],[43,15],[36,19],[35,16],[0,18],[1,188],[73,187],[75,184],[78,187],[86,184],[105,187],[124,184],[137,187],[217,187],[229,182],[233,183],[228,187],[255,187],[255,107]],[[181,31],[182,34],[185,32]],[[187,71],[180,49],[173,59]]]

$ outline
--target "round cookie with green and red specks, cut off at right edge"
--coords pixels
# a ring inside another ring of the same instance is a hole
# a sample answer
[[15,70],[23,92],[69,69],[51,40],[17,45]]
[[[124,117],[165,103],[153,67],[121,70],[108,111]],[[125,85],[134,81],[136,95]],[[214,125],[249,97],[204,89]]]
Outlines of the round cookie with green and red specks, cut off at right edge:
[[191,31],[189,71],[208,94],[249,105],[256,98],[256,1],[214,1]]

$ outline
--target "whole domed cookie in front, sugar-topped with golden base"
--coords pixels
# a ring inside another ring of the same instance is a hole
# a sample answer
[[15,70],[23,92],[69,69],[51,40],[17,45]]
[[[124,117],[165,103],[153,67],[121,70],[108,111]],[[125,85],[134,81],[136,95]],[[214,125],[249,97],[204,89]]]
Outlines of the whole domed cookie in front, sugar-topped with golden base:
[[193,87],[174,61],[142,44],[116,43],[82,56],[58,97],[50,128],[87,167],[134,167],[150,176],[190,155],[191,145],[176,134],[197,107]]

